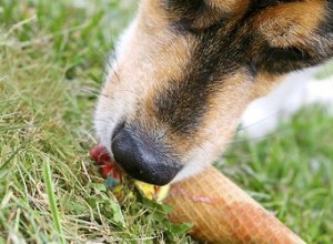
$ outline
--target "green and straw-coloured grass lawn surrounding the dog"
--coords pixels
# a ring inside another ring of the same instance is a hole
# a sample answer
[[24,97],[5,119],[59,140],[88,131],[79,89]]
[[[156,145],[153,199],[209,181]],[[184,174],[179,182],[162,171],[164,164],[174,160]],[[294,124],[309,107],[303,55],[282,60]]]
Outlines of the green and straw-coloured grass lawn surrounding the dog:
[[[164,207],[119,204],[88,155],[101,53],[134,1],[69,2],[0,1],[0,243],[191,243]],[[320,108],[301,111],[218,166],[305,241],[332,243],[332,124]]]

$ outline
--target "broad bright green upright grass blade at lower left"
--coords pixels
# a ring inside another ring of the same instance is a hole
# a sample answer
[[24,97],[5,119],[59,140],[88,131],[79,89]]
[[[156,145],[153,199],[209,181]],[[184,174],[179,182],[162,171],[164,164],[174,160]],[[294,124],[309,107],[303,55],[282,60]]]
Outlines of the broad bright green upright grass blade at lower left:
[[64,236],[62,233],[62,227],[61,227],[61,222],[60,222],[60,214],[57,207],[57,201],[54,197],[54,192],[53,192],[53,182],[52,182],[52,176],[51,176],[51,169],[49,162],[44,162],[43,164],[43,177],[47,186],[47,194],[48,194],[48,200],[49,200],[49,205],[51,209],[52,217],[53,217],[53,224],[54,228],[58,232],[59,235],[59,241],[60,243],[65,243]]

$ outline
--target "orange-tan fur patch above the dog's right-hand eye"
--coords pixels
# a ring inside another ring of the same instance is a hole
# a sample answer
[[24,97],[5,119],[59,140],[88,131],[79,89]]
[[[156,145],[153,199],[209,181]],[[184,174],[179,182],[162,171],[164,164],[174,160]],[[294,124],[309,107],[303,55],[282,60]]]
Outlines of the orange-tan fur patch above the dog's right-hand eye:
[[325,1],[289,2],[271,7],[254,21],[254,27],[272,47],[306,45],[325,17]]

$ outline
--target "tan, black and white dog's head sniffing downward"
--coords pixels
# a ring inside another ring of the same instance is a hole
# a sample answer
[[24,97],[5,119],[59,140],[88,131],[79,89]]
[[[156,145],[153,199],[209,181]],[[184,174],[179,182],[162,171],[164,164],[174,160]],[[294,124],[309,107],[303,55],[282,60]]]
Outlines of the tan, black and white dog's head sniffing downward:
[[133,177],[167,184],[219,156],[246,105],[333,55],[333,1],[144,0],[95,129]]

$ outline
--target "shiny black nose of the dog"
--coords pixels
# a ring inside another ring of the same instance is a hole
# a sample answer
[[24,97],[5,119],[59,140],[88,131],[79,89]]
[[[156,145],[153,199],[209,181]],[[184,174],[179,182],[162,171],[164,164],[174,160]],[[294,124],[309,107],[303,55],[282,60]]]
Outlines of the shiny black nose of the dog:
[[118,130],[111,149],[114,160],[131,177],[150,184],[170,183],[182,167],[161,145],[133,129]]

